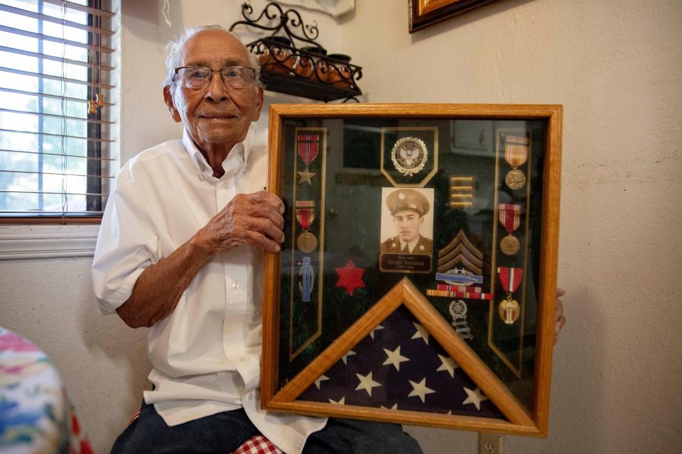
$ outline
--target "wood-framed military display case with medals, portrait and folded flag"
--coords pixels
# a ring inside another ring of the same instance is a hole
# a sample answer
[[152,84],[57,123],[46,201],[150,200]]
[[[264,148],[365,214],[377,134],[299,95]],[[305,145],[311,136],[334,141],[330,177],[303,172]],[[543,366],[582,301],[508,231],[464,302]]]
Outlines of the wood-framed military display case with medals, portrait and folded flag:
[[264,408],[546,436],[561,113],[271,106]]

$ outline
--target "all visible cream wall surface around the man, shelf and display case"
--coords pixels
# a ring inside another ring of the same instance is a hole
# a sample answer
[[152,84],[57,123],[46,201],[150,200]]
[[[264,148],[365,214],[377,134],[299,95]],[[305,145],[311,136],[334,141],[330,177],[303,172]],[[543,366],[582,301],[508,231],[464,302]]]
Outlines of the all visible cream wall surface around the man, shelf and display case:
[[[229,25],[240,3],[171,1],[168,28],[163,1],[124,0],[124,160],[180,133],[161,101],[166,41],[183,26]],[[356,4],[340,26],[304,17],[364,68],[369,101],[565,107],[559,280],[569,321],[549,437],[505,437],[507,453],[678,452],[682,2],[497,0],[414,35],[406,1]],[[144,330],[97,314],[90,262],[0,262],[0,325],[52,356],[104,453],[139,406],[149,365]],[[428,454],[475,452],[473,433],[410,431]]]

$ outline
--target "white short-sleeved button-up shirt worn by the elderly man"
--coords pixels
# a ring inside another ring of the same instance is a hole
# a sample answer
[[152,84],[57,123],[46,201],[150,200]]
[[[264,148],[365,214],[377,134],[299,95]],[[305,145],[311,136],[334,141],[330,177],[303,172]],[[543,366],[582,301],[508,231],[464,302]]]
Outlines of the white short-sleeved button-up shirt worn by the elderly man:
[[[114,314],[146,267],[183,245],[237,194],[266,187],[267,148],[247,139],[232,148],[220,179],[188,135],[145,150],[117,175],[92,263],[102,314]],[[144,399],[169,426],[244,407],[286,453],[300,453],[326,419],[260,408],[263,251],[241,246],[215,255],[175,310],[147,336],[153,391]]]

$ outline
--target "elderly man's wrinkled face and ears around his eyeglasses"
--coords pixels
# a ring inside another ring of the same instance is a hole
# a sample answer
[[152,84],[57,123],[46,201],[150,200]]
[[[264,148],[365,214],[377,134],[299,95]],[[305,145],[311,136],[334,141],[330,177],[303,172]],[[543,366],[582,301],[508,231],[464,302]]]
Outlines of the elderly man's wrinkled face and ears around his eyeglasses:
[[[205,66],[218,70],[226,66],[249,67],[249,55],[233,35],[222,31],[202,31],[178,50],[180,66]],[[246,138],[251,121],[258,120],[263,90],[249,85],[243,89],[226,87],[220,74],[213,73],[205,89],[188,89],[175,81],[164,89],[164,98],[175,121],[182,121],[200,148],[232,145]],[[170,103],[170,104],[169,104]]]

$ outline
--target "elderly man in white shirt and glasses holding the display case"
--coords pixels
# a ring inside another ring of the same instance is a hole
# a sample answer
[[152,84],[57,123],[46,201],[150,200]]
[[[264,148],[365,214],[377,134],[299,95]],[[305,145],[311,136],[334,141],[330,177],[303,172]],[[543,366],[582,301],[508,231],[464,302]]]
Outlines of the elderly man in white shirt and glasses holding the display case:
[[121,168],[92,265],[102,313],[149,328],[153,389],[113,452],[226,453],[259,433],[286,453],[421,452],[396,424],[260,409],[263,251],[280,250],[284,206],[250,128],[259,65],[218,26],[169,50],[163,99],[183,139]]

